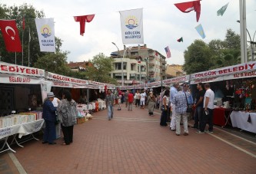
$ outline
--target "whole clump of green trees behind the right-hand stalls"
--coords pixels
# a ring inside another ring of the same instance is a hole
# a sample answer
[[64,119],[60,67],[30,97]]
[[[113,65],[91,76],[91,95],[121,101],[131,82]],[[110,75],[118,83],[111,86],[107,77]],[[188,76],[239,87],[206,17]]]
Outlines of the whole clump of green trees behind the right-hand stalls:
[[196,40],[184,53],[184,70],[187,74],[239,64],[240,36],[228,29],[224,41],[214,39],[205,44]]

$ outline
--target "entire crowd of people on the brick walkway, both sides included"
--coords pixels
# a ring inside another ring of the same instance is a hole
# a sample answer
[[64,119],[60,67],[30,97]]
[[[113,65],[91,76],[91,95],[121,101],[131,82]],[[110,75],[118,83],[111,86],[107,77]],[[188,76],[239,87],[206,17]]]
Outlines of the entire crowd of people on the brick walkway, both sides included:
[[[80,100],[86,103],[85,94],[82,94]],[[108,108],[108,120],[114,115],[114,105],[118,100],[118,110],[121,110],[121,103],[125,102],[127,110],[132,111],[133,105],[140,107],[141,110],[148,106],[148,115],[154,116],[154,109],[161,103],[160,126],[170,126],[171,131],[175,131],[177,136],[181,134],[180,125],[184,126],[184,135],[188,136],[188,120],[194,119],[192,128],[197,133],[213,133],[213,110],[214,110],[214,92],[210,84],[197,84],[197,92],[194,97],[191,94],[188,84],[173,84],[171,89],[165,89],[155,96],[153,90],[132,90],[121,91],[113,94],[111,90],[105,95],[105,103]],[[73,142],[73,129],[76,124],[78,112],[77,103],[71,98],[71,93],[64,90],[62,100],[58,100],[53,92],[47,94],[43,103],[43,119],[45,120],[45,132],[42,143],[55,143],[55,123],[59,120],[62,127],[63,143],[69,145]],[[194,112],[191,112],[194,110]],[[182,123],[181,123],[182,120]],[[168,123],[170,123],[168,125]],[[204,130],[208,123],[208,130]]]

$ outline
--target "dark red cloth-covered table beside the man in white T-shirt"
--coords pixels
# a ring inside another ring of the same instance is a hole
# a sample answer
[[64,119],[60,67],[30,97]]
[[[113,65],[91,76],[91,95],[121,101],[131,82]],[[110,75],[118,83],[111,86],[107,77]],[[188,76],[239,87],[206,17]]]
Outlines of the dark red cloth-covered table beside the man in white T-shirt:
[[223,107],[215,107],[213,113],[213,123],[218,126],[226,126],[232,110]]

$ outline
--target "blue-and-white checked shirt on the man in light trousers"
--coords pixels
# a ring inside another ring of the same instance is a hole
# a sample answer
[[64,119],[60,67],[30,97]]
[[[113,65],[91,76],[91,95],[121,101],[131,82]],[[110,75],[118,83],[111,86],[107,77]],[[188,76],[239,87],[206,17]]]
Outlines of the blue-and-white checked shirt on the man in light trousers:
[[175,94],[175,97],[173,98],[173,103],[175,104],[176,113],[186,113],[187,100],[183,91],[179,91],[178,94]]

